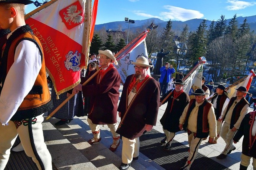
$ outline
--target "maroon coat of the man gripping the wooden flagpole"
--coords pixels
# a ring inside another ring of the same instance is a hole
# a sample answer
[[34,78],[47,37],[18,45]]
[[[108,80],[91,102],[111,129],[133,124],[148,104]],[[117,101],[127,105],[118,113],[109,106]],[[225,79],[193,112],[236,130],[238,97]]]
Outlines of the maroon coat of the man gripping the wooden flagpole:
[[82,87],[84,97],[91,97],[88,118],[97,125],[117,123],[117,103],[121,77],[117,69],[110,64],[100,82],[97,74],[91,81],[93,85]]

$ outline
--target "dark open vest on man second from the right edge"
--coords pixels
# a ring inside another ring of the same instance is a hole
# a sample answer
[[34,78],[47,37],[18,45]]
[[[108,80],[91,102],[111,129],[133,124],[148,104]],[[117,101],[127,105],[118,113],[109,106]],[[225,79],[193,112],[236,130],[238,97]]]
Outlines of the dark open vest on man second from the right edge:
[[[227,111],[224,114],[224,118],[223,120],[225,121],[226,115],[228,110],[230,109],[230,107],[232,106],[232,104],[234,103],[235,99],[237,97],[232,97],[228,103],[227,106]],[[234,107],[233,112],[232,112],[232,116],[231,116],[231,121],[230,121],[230,129],[232,129],[235,125],[235,123],[237,123],[237,120],[239,119],[240,116],[240,112],[242,111],[243,107],[249,104],[248,101],[246,101],[246,99],[243,97]]]

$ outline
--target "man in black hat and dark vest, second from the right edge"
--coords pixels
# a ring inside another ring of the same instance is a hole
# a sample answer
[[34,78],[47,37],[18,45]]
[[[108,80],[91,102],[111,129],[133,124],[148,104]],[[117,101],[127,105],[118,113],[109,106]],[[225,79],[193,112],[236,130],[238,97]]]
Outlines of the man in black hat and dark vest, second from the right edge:
[[227,107],[223,112],[224,115],[222,115],[222,117],[218,120],[220,122],[225,121],[222,125],[220,136],[225,141],[226,146],[224,150],[221,152],[221,154],[216,157],[217,159],[226,158],[227,154],[230,154],[232,151],[236,149],[235,146],[232,144],[233,137],[237,130],[239,129],[241,121],[243,120],[245,115],[250,111],[249,103],[244,98],[244,95],[246,93],[250,93],[248,93],[246,88],[243,86],[236,88],[236,90],[236,96],[230,99]]

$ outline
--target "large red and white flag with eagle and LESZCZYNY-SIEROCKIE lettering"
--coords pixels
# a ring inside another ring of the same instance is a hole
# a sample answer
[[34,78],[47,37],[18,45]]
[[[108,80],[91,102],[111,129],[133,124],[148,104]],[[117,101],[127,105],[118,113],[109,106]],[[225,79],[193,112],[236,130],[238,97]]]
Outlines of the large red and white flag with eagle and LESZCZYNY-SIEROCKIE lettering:
[[42,44],[45,65],[57,95],[80,83],[80,68],[87,66],[91,2],[52,0],[38,13],[29,13],[31,17],[26,19]]

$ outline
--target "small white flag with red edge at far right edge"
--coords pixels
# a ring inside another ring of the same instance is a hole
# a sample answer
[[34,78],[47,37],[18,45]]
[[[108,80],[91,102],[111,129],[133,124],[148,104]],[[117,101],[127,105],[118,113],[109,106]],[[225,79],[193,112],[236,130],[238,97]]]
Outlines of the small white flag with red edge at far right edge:
[[227,96],[229,98],[235,97],[236,93],[237,93],[236,88],[238,88],[240,86],[245,87],[248,91],[250,86],[251,86],[251,82],[253,80],[253,77],[255,77],[255,76],[256,75],[254,74],[253,69],[252,69],[250,71],[250,74],[247,77],[244,77],[243,79],[239,80],[238,82],[233,83],[232,85],[230,85],[226,88]]

